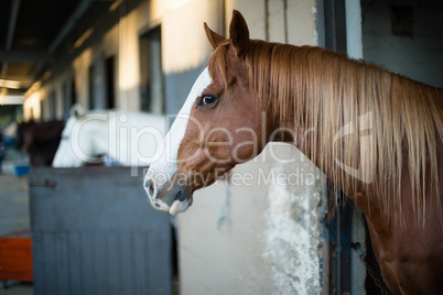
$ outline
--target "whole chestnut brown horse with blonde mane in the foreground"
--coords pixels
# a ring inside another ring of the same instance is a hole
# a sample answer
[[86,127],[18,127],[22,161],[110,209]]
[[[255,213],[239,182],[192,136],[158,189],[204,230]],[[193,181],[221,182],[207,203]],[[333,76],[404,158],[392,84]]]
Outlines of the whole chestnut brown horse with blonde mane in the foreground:
[[144,181],[151,204],[185,211],[270,141],[299,148],[366,215],[395,294],[443,291],[443,90],[320,47],[250,40],[237,11]]

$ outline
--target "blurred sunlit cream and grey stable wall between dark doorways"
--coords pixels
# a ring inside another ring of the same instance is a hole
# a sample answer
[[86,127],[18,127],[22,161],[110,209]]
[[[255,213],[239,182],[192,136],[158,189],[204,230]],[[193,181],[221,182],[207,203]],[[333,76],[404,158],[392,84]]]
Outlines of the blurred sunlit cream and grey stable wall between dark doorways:
[[[215,30],[220,30],[220,18],[212,15],[222,13],[222,3],[223,1],[204,0],[122,2],[118,8],[120,17],[112,26],[105,32],[96,30],[78,52],[61,54],[51,78],[45,80],[40,89],[29,94],[24,102],[25,120],[31,119],[31,116],[43,120],[64,118],[67,113],[63,106],[63,85],[69,78],[75,79],[77,102],[88,109],[89,67],[96,61],[109,56],[115,56],[116,108],[139,110],[141,64],[139,40],[158,25],[162,28],[166,113],[176,113],[210,54],[210,45],[206,42],[206,36],[201,34],[204,32],[203,22],[206,21]],[[106,18],[110,18],[109,15],[106,12],[97,18],[105,19],[100,20],[100,23],[106,23]],[[82,23],[78,25],[82,26]],[[104,79],[97,77],[100,78]],[[50,106],[50,96],[53,94],[56,99],[55,113],[51,112]],[[104,95],[97,94],[97,96]],[[41,114],[43,118],[40,118]]]

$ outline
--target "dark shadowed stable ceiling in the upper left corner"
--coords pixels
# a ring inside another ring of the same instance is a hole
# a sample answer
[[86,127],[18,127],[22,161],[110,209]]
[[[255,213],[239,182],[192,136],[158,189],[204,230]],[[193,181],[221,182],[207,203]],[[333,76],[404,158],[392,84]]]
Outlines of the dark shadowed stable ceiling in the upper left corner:
[[98,2],[109,6],[112,1],[1,0],[0,94],[23,95],[39,80],[76,24]]

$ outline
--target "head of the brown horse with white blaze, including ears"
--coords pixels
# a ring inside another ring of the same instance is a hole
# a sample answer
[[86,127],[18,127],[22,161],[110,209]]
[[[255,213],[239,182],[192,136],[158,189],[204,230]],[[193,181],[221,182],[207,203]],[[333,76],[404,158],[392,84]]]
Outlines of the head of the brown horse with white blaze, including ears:
[[162,159],[144,179],[151,205],[171,215],[185,211],[196,189],[256,156],[273,129],[262,120],[263,108],[250,89],[245,59],[249,31],[242,15],[234,11],[229,39],[204,26],[214,48],[208,67],[166,134]]

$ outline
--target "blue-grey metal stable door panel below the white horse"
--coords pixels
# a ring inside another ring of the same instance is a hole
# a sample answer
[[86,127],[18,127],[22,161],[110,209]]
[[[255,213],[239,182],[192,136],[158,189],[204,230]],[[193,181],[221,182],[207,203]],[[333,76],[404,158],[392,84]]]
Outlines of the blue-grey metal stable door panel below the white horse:
[[172,294],[169,216],[148,204],[142,176],[128,167],[32,171],[36,295]]

